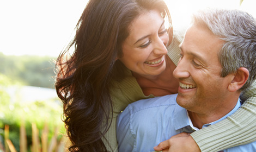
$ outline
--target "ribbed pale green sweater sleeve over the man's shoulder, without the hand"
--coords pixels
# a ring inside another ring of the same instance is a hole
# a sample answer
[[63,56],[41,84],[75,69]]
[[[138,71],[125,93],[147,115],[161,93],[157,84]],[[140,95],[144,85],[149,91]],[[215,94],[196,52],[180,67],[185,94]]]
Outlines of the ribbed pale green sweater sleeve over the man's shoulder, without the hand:
[[218,151],[256,141],[256,81],[240,98],[246,101],[233,115],[191,134],[202,151]]

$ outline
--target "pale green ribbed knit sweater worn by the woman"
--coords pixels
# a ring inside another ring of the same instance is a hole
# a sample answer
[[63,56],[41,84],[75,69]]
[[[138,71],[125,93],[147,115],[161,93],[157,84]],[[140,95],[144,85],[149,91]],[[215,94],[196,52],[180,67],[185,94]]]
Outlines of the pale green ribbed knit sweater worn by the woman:
[[[179,31],[179,33],[174,31],[175,36],[172,44],[168,47],[168,56],[175,65],[177,65],[179,61],[179,45],[183,39],[184,33],[185,30]],[[108,151],[118,152],[117,136],[115,132],[118,114],[132,102],[153,97],[153,95],[144,96],[141,87],[138,85],[129,69],[127,69],[123,79],[113,81],[111,98],[113,100],[114,114],[111,127],[102,138]],[[240,98],[247,100],[233,115],[217,124],[200,129],[191,134],[203,152],[218,151],[256,141],[256,81],[250,90],[242,93]]]

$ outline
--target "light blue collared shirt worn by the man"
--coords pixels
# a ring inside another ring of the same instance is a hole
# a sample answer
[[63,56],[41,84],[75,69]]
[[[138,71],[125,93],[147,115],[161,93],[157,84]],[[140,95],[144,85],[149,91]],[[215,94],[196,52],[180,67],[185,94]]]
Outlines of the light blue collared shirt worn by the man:
[[[118,150],[154,151],[156,145],[180,132],[193,132],[187,110],[176,104],[177,94],[139,100],[126,107],[117,120]],[[240,107],[240,101],[227,115],[207,127],[227,118]],[[256,142],[223,151],[256,151]]]

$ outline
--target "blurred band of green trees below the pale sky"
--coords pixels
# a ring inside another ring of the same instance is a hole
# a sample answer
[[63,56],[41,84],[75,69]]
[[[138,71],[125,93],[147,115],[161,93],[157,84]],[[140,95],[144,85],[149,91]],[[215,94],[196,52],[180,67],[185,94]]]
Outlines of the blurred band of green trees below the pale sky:
[[14,56],[0,53],[0,73],[23,85],[53,88],[54,60],[50,56]]

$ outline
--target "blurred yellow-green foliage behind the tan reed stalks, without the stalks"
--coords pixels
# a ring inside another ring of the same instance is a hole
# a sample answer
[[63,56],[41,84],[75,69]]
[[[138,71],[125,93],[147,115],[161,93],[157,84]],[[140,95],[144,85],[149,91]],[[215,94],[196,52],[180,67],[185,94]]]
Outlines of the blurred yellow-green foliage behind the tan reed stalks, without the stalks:
[[27,132],[28,147],[32,144],[32,123],[35,123],[41,136],[42,129],[46,124],[49,129],[49,140],[54,135],[56,128],[60,131],[59,138],[65,134],[64,123],[62,122],[62,104],[58,99],[49,99],[47,101],[37,100],[34,102],[10,100],[6,92],[8,86],[19,85],[0,73],[0,142],[3,144],[4,125],[10,126],[9,138],[19,151],[20,126],[25,123]]

